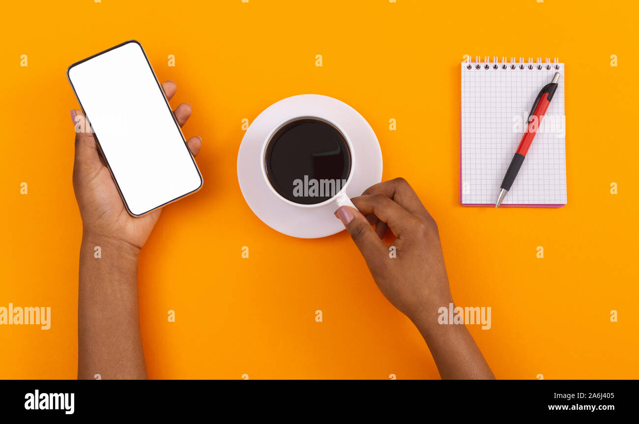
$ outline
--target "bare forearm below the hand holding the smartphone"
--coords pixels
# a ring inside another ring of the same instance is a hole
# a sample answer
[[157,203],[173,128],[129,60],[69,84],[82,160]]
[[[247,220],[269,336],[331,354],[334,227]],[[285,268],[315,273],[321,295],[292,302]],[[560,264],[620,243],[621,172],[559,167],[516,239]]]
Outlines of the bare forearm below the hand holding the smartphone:
[[[100,256],[96,257],[96,246]],[[84,234],[78,296],[78,378],[146,379],[137,297],[139,248]]]

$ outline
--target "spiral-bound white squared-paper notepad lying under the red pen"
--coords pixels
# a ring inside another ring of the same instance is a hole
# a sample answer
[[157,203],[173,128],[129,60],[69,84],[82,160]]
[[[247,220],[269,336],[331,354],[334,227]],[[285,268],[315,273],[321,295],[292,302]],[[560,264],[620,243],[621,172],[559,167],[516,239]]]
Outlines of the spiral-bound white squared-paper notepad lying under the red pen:
[[461,204],[495,206],[535,97],[555,72],[557,92],[502,206],[566,204],[564,64],[497,57],[461,63]]

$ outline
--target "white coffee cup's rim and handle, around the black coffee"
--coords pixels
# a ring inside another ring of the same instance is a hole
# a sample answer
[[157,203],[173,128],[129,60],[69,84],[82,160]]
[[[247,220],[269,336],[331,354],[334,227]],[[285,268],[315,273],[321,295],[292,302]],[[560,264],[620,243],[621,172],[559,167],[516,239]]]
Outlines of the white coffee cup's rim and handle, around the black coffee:
[[[268,179],[268,175],[266,174],[265,156],[266,156],[266,148],[268,147],[268,143],[273,138],[273,135],[275,135],[275,133],[278,130],[280,130],[283,126],[288,125],[289,123],[293,121],[298,121],[300,119],[316,119],[318,121],[323,121],[327,123],[328,125],[334,126],[334,128],[337,131],[339,131],[339,133],[341,133],[341,135],[344,137],[344,140],[346,140],[346,145],[348,146],[348,155],[350,156],[350,159],[351,159],[351,169],[350,169],[350,172],[348,173],[348,178],[346,178],[346,183],[344,183],[344,185],[341,186],[339,192],[335,193],[333,197],[331,197],[330,199],[327,199],[326,201],[314,203],[314,204],[301,204],[301,203],[291,202],[288,199],[284,198],[280,193],[277,192],[277,190],[275,190],[275,188],[271,184],[271,181]],[[268,135],[266,135],[264,143],[262,144],[260,158],[261,158],[260,163],[261,163],[262,177],[264,178],[264,181],[266,181],[266,186],[268,186],[268,188],[270,188],[273,194],[275,194],[275,196],[277,196],[282,202],[286,202],[290,204],[291,206],[295,206],[296,208],[304,208],[304,209],[320,208],[321,206],[325,206],[328,204],[333,204],[335,206],[335,209],[340,208],[341,206],[350,206],[351,208],[355,208],[355,205],[353,204],[353,202],[351,202],[351,199],[349,199],[348,195],[346,195],[346,188],[351,183],[351,180],[353,179],[353,174],[355,172],[355,167],[357,166],[355,161],[355,156],[353,156],[353,144],[351,143],[351,140],[348,138],[348,134],[344,132],[344,130],[335,121],[332,121],[331,119],[328,119],[327,117],[316,115],[316,114],[300,114],[300,115],[289,116],[283,121],[281,121],[279,124],[275,125],[273,129],[268,133]]]

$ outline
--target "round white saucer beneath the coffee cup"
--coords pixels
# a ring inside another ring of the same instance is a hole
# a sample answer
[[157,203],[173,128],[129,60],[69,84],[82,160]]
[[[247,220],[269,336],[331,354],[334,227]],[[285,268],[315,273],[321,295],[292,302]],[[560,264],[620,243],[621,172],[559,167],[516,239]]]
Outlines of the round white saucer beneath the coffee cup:
[[298,238],[326,237],[344,229],[335,218],[334,204],[317,208],[298,208],[288,204],[271,190],[261,171],[261,149],[266,137],[286,119],[309,114],[324,116],[337,123],[353,145],[353,169],[348,197],[361,195],[381,181],[381,149],[373,128],[366,119],[344,102],[320,95],[299,95],[280,100],[266,108],[249,126],[238,153],[238,181],[250,209],[266,225]]

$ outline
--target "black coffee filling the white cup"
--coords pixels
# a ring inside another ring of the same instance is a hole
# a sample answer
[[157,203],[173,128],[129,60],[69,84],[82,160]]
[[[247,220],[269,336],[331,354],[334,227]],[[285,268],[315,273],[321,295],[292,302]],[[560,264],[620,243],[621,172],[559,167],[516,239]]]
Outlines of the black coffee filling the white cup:
[[316,204],[333,197],[351,172],[346,139],[319,119],[292,121],[277,130],[266,146],[268,181],[284,199]]

